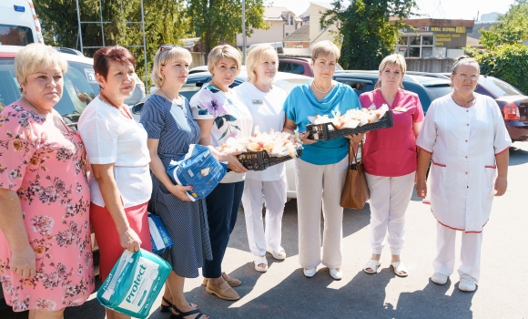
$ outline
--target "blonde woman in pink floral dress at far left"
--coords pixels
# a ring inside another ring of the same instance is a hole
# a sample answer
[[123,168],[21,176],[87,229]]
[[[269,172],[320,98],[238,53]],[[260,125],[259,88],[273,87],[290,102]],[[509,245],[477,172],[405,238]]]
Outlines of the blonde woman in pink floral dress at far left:
[[36,319],[63,318],[94,290],[85,149],[53,108],[66,68],[53,47],[25,46],[22,98],[0,113],[0,283]]

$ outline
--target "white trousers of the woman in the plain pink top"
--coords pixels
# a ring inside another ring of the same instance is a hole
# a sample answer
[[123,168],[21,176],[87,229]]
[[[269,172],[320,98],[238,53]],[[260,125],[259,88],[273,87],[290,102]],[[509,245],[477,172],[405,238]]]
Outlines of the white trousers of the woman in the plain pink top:
[[365,174],[371,192],[371,247],[381,254],[385,237],[393,255],[399,255],[405,236],[405,211],[411,201],[414,172],[398,177]]

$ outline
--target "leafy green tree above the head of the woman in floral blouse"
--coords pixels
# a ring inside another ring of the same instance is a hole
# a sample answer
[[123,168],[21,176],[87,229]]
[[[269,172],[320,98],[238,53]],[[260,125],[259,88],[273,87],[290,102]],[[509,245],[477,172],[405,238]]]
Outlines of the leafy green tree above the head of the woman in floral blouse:
[[[254,28],[266,29],[263,0],[246,0],[246,35]],[[237,45],[242,32],[241,0],[188,0],[190,26],[205,45],[206,57],[214,46],[224,42]]]

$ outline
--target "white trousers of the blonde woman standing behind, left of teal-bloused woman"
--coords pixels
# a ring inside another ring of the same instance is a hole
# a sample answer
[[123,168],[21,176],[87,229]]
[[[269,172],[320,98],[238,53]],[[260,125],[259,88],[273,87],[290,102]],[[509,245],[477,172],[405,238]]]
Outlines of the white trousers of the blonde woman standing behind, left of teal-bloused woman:
[[[266,231],[262,222],[262,196],[266,204]],[[279,250],[285,203],[286,177],[282,180],[244,181],[242,206],[246,217],[249,250],[254,255],[265,255],[267,245],[275,251]]]

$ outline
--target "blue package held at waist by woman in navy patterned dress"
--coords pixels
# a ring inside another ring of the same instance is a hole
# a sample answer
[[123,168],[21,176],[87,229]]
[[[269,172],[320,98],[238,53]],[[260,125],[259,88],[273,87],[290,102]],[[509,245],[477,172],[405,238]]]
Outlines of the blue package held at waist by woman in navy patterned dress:
[[228,164],[220,163],[208,147],[190,144],[181,160],[172,160],[167,168],[170,179],[178,185],[192,186],[187,191],[191,201],[206,198],[228,172]]

